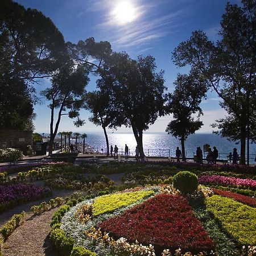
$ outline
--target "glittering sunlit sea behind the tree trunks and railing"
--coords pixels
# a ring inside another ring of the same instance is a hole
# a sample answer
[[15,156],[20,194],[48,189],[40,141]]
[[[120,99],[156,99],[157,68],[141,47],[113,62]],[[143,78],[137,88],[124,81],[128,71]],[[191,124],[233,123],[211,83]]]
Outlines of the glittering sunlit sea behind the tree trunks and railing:
[[[87,133],[85,143],[93,148],[95,152],[106,152],[106,140],[104,133]],[[74,140],[74,137],[72,137]],[[129,155],[135,155],[135,141],[133,133],[110,133],[108,134],[109,146],[117,145],[118,152],[125,151],[125,144],[129,147]],[[82,142],[82,139],[79,140]],[[240,144],[230,142],[228,139],[216,134],[192,134],[189,135],[185,141],[185,154],[187,158],[193,158],[196,148],[201,147],[203,150],[204,145],[209,144],[213,150],[213,146],[217,147],[219,152],[219,159],[227,159],[229,152],[233,152],[236,147],[238,154],[240,154]],[[176,148],[181,144],[178,138],[172,137],[166,133],[145,133],[143,134],[143,148],[146,156],[175,156]],[[250,163],[254,163],[256,154],[256,144],[250,144]],[[203,152],[205,157],[207,152]]]

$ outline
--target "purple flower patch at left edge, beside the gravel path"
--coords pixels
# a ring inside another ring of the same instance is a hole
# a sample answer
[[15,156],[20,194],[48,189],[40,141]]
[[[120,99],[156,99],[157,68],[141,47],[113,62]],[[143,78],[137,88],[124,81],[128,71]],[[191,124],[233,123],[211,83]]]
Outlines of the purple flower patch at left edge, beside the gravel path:
[[0,212],[17,204],[48,196],[50,193],[51,190],[49,188],[32,184],[0,185]]

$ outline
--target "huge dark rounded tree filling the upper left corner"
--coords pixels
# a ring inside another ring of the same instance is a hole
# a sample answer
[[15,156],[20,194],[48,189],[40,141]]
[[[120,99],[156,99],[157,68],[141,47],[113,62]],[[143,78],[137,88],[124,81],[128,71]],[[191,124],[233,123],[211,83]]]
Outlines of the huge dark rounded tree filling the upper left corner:
[[63,35],[51,19],[11,0],[0,2],[2,129],[33,129],[31,81],[54,75],[66,56]]

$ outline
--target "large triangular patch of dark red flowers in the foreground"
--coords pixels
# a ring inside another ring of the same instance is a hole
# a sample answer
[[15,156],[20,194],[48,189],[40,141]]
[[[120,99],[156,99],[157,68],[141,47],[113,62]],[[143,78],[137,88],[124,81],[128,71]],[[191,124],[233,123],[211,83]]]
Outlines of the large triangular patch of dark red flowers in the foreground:
[[119,217],[99,225],[114,237],[151,243],[155,247],[185,251],[210,251],[213,242],[193,215],[185,197],[158,195]]

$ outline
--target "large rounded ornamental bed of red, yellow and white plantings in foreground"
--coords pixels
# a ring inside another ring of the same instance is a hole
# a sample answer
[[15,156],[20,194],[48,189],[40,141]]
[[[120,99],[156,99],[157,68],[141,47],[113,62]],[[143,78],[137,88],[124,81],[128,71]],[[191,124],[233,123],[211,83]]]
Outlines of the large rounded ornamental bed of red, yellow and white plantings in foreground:
[[[205,210],[208,217],[200,220],[191,201],[203,204],[197,211]],[[72,250],[79,247],[88,255],[252,256],[255,221],[255,208],[216,196],[207,187],[184,196],[161,185],[64,206],[53,216],[51,238],[59,253],[65,248],[63,255],[75,255]]]

